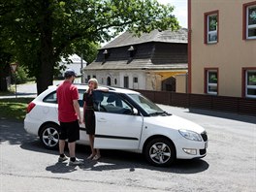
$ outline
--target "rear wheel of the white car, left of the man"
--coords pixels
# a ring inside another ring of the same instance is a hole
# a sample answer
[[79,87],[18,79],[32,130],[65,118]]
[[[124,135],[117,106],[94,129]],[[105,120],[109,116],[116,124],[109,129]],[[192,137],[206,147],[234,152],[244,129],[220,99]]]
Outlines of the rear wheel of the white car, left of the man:
[[56,149],[59,144],[59,126],[53,123],[44,125],[40,132],[40,140],[48,149]]

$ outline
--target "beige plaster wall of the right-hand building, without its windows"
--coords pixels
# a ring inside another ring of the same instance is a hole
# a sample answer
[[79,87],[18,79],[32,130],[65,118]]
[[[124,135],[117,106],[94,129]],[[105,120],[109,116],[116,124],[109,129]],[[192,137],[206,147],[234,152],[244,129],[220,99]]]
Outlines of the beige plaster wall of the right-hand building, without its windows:
[[[242,40],[242,4],[248,0],[191,0],[191,91],[204,93],[204,69],[218,68],[218,94],[241,97],[242,67],[256,66],[256,40]],[[219,11],[219,41],[204,44],[204,14]]]

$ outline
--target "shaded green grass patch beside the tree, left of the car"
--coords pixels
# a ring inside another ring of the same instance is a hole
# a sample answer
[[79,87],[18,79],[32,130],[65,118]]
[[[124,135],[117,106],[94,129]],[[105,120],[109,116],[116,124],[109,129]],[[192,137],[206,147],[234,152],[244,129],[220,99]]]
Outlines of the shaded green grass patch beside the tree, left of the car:
[[0,99],[0,119],[22,121],[26,115],[27,104],[33,98]]

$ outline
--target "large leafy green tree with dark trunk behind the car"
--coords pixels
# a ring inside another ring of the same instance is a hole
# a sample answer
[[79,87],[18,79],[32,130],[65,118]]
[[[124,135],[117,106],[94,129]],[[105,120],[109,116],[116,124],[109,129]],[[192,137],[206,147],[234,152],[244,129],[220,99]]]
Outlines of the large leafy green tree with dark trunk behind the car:
[[177,29],[173,10],[156,0],[1,0],[0,30],[6,48],[36,77],[41,93],[52,84],[61,56],[109,41],[124,30],[140,35]]

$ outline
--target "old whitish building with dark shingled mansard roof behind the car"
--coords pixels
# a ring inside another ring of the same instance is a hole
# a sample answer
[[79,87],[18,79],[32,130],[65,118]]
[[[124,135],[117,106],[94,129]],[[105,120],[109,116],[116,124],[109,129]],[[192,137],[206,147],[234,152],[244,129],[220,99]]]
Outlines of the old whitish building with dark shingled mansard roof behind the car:
[[125,32],[100,48],[83,72],[104,85],[176,91],[176,76],[187,73],[187,29],[154,30],[140,38]]

